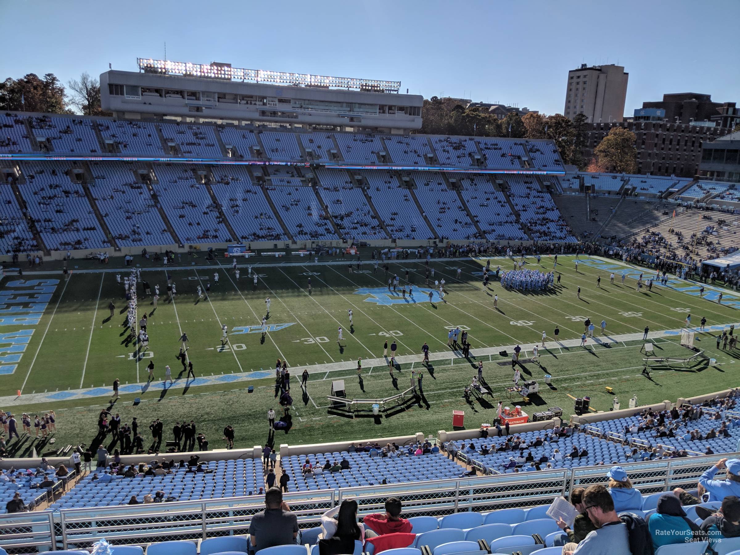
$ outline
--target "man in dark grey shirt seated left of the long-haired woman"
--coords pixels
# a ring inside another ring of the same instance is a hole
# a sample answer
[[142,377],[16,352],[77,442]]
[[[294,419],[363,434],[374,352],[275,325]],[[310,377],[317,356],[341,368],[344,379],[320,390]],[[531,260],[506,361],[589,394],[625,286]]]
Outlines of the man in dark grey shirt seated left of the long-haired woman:
[[265,506],[266,509],[255,514],[249,523],[252,550],[294,544],[298,536],[298,519],[283,501],[283,492],[269,488],[265,493]]

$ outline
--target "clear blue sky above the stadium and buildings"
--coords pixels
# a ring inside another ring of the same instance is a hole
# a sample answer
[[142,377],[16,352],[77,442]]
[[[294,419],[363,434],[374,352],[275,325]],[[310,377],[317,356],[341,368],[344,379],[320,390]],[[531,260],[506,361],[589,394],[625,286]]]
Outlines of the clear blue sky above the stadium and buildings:
[[[664,92],[740,101],[738,0],[0,0],[0,78],[66,84],[135,58],[400,80],[402,91],[562,112],[568,70],[619,62],[625,112]],[[728,19],[723,20],[723,14]],[[15,45],[8,50],[8,45]]]

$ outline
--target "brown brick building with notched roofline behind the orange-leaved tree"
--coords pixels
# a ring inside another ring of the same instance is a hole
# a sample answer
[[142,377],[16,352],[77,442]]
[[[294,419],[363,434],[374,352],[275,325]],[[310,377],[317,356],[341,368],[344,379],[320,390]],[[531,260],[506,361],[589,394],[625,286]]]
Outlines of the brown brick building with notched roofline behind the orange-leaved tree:
[[[641,111],[635,110],[636,117]],[[635,134],[638,173],[679,177],[697,175],[702,144],[730,131],[724,127],[670,123],[670,120],[591,124],[583,151],[586,160],[593,157],[593,150],[613,127],[624,127]]]

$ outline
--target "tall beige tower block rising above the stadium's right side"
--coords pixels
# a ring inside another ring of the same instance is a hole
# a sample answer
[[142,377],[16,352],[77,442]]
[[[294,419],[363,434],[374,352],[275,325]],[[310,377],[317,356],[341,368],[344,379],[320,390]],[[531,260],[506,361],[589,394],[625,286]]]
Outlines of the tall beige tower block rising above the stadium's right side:
[[588,67],[581,64],[568,72],[563,115],[573,119],[583,113],[589,123],[622,121],[629,73],[614,64]]

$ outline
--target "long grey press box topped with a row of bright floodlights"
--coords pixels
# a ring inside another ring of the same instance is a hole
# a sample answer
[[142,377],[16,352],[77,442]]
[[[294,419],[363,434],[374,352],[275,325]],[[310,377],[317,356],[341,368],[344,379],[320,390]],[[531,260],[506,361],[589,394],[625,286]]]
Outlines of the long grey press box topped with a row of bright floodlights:
[[400,81],[144,58],[138,66],[143,73],[110,70],[100,76],[101,104],[115,117],[392,134],[421,128],[424,99],[400,94]]

